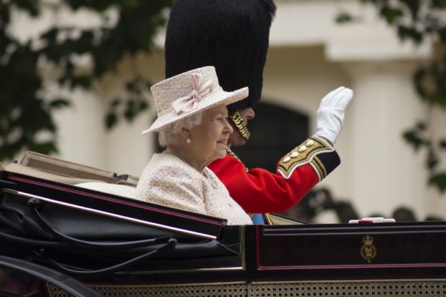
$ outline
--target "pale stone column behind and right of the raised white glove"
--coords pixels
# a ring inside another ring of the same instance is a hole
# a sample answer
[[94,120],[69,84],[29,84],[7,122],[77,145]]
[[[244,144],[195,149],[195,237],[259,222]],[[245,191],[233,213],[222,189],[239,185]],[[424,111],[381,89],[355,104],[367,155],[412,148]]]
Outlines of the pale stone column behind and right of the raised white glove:
[[384,211],[387,216],[400,205],[423,212],[424,156],[402,137],[425,117],[425,107],[413,90],[413,64],[364,62],[345,68],[355,91],[348,115],[351,198],[358,209]]

